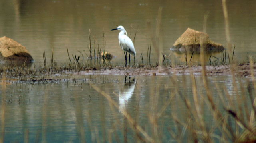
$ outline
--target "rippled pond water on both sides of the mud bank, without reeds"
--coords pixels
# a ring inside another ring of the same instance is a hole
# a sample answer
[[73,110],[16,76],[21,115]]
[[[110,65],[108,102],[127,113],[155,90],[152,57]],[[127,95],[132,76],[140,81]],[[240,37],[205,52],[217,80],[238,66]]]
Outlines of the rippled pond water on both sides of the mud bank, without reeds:
[[[238,60],[246,60],[248,54],[256,53],[256,1],[232,0],[227,5],[231,43],[236,45],[235,56]],[[124,56],[118,44],[118,32],[110,30],[123,25],[133,38],[138,27],[136,62],[141,60],[141,53],[145,61],[160,6],[163,7],[161,34],[164,54],[169,55],[169,48],[188,27],[202,31],[204,14],[208,14],[206,31],[210,39],[226,46],[222,3],[204,0],[0,0],[0,37],[7,36],[25,46],[37,65],[43,64],[43,52],[46,52],[46,61],[50,62],[52,48],[54,59],[58,63],[67,63],[67,48],[69,54],[82,53],[86,59],[91,29],[92,46],[95,35],[96,47],[97,44],[99,48],[102,47],[104,32],[105,50],[116,56],[111,62],[120,64],[124,63]],[[151,27],[147,21],[150,21]],[[151,62],[157,62],[154,49],[151,54]],[[213,99],[221,111],[220,94],[231,95],[229,99],[224,96],[226,103],[236,103],[244,94],[248,98],[247,91],[240,90],[239,86],[234,87],[231,77],[208,79]],[[246,82],[242,80],[242,83]],[[170,103],[157,121],[157,126],[163,142],[173,141],[170,129],[174,132],[179,130],[174,124],[173,115],[185,122],[187,109],[171,77],[127,77],[126,81],[124,76],[80,75],[64,77],[61,81],[48,84],[11,83],[6,89],[4,141],[23,142],[24,137],[28,136],[29,142],[36,139],[42,142],[78,142],[83,139],[87,142],[96,142],[97,139],[99,142],[105,139],[123,142],[125,129],[128,128],[127,140],[135,142],[138,138],[122,112],[127,110],[139,126],[152,135],[153,126],[149,117],[155,111],[160,111],[169,99]],[[191,77],[179,76],[175,82],[179,91],[193,104]],[[109,101],[89,83],[110,95],[118,107],[110,106]],[[200,76],[196,77],[196,85],[198,92],[205,96]],[[236,95],[235,88],[238,88],[238,96],[232,96]],[[4,94],[3,85],[0,85],[0,89]],[[173,94],[174,97],[170,98]],[[155,108],[151,108],[152,105]],[[207,106],[203,110],[204,120],[211,129],[214,126],[213,118],[207,112]],[[216,131],[216,134],[219,132]],[[182,137],[186,139],[185,134]]]

